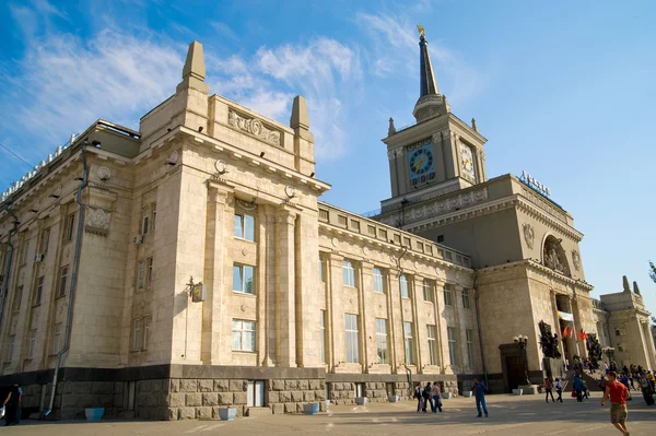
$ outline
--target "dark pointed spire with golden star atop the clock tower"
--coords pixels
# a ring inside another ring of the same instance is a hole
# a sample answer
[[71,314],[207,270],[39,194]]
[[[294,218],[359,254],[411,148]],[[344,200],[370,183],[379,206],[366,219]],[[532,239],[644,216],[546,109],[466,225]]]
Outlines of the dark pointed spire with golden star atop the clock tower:
[[440,94],[437,89],[424,28],[421,24],[417,28],[419,30],[419,99],[414,105],[412,115],[414,115],[417,122],[421,122],[449,113],[450,106],[446,102],[446,96]]

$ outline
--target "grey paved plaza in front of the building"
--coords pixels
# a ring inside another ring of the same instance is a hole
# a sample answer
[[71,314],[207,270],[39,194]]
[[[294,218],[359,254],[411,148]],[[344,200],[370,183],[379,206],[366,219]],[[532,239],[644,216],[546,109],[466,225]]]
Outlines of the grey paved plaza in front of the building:
[[[475,400],[444,401],[442,414],[417,413],[417,403],[374,403],[331,406],[315,416],[270,415],[222,421],[84,421],[45,423],[24,421],[2,429],[3,435],[26,436],[210,436],[210,435],[485,435],[540,436],[619,435],[609,422],[608,404],[599,406],[600,392],[583,403],[565,398],[564,403],[544,403],[542,396],[489,396],[490,417],[477,419]],[[656,435],[656,408],[636,394],[629,402],[632,436]]]

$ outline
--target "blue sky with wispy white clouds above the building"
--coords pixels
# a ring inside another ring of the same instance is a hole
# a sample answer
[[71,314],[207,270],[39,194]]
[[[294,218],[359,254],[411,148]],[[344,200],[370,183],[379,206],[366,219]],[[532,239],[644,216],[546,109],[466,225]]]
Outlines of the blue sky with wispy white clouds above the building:
[[[138,128],[198,39],[211,93],[285,123],[306,96],[324,200],[366,212],[390,195],[387,119],[413,121],[421,23],[441,92],[489,140],[488,175],[549,186],[585,234],[594,295],[626,274],[656,311],[654,16],[637,0],[9,0],[0,142],[36,165],[97,118]],[[26,170],[0,149],[2,189]]]

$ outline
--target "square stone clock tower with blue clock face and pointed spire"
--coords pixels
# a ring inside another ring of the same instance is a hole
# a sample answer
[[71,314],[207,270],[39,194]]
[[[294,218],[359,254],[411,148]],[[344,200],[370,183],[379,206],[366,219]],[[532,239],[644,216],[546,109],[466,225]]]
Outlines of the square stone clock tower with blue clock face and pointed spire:
[[469,126],[452,114],[435,81],[423,27],[418,27],[420,94],[412,111],[417,123],[397,131],[389,119],[383,142],[389,157],[391,198],[382,201],[383,212],[487,180],[487,140],[473,119]]

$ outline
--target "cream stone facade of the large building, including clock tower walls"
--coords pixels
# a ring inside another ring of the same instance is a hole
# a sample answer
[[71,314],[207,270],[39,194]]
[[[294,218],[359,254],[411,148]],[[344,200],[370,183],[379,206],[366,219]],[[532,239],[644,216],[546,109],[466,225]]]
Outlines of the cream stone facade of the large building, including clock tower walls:
[[[215,419],[410,398],[415,382],[502,391],[514,335],[541,378],[540,320],[596,331],[572,216],[488,179],[485,139],[446,97],[390,126],[395,197],[367,219],[319,201],[303,97],[284,126],[204,75],[192,43],[139,131],[99,120],[2,195],[0,382],[21,382],[26,409]],[[426,138],[445,169],[420,187],[409,152]],[[576,338],[563,355],[585,352]]]

